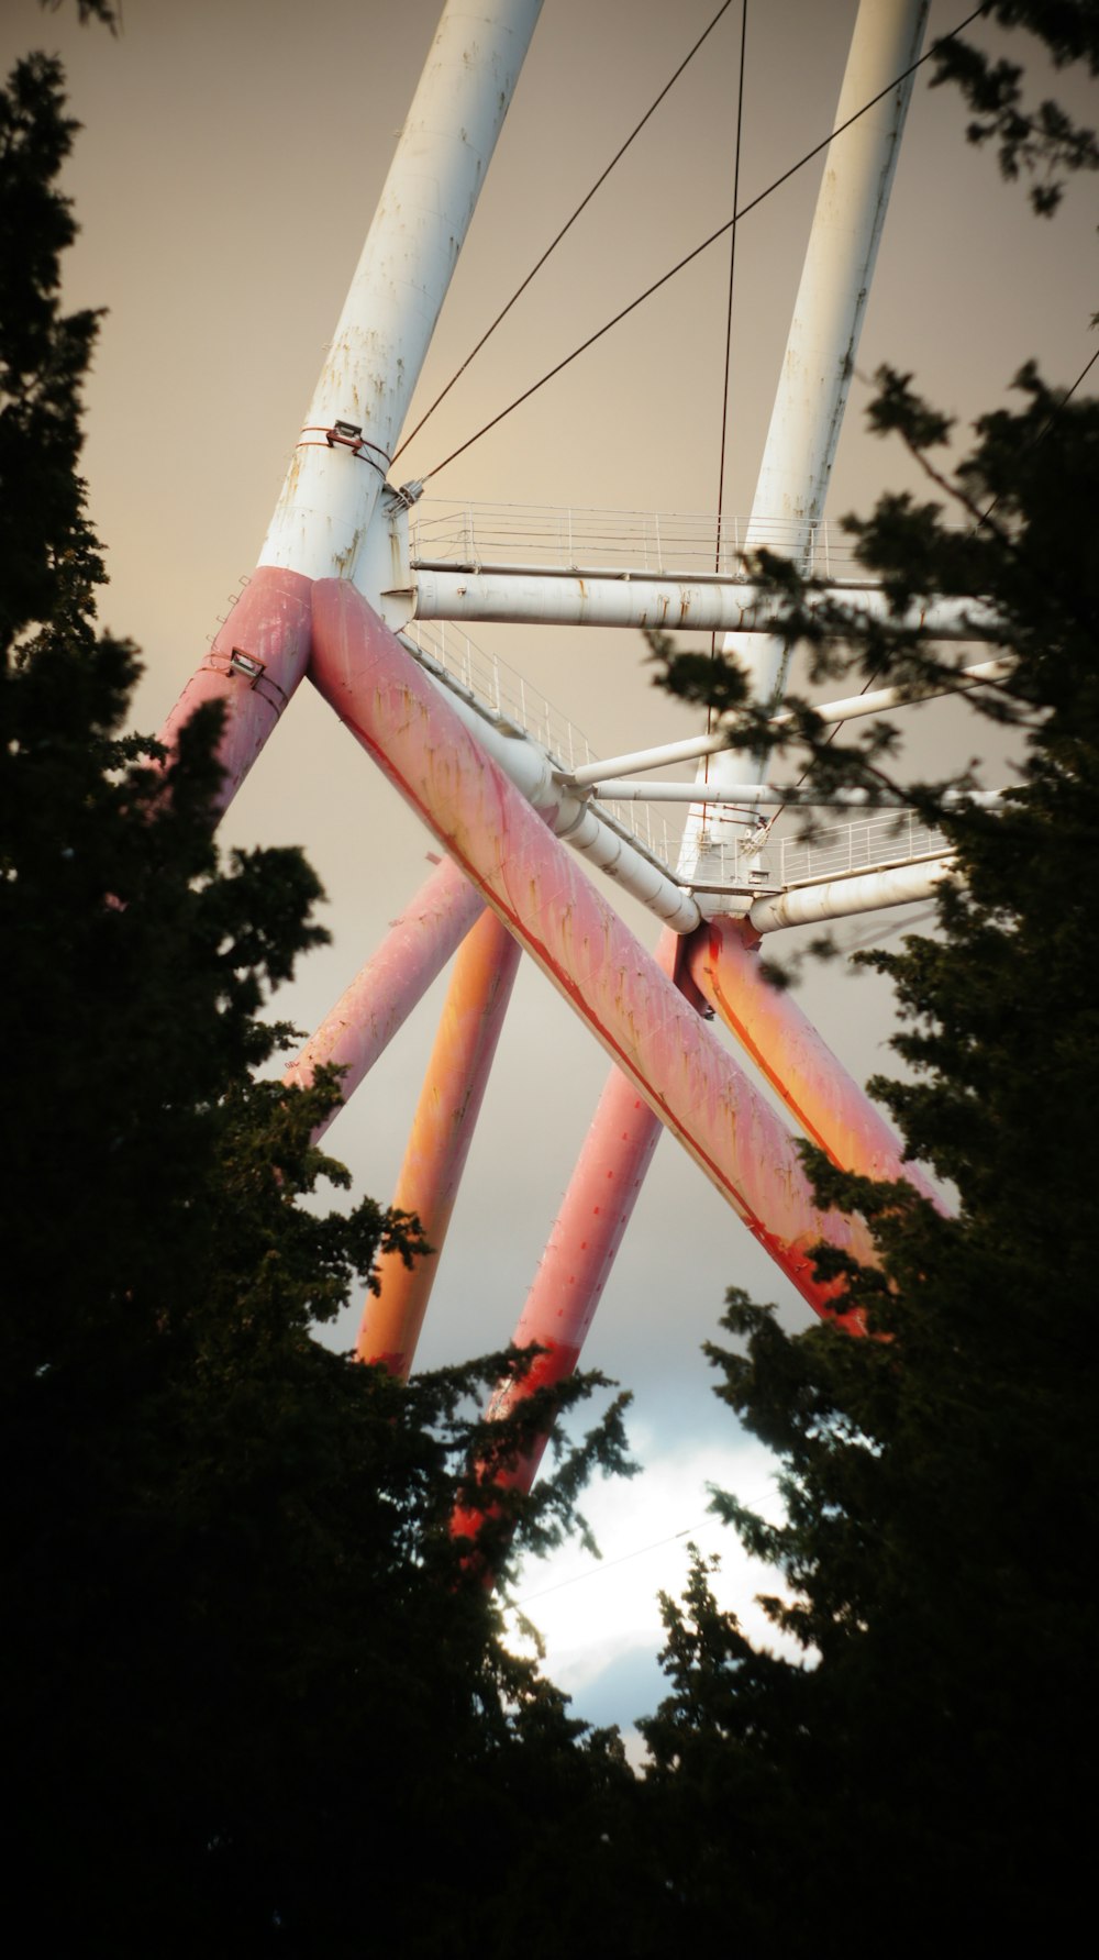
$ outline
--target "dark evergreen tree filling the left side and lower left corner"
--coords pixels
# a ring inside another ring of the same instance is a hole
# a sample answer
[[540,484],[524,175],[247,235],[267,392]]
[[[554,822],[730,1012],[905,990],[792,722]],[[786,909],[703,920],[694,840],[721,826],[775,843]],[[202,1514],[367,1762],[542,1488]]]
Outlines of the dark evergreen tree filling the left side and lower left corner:
[[137,657],[96,629],[74,472],[96,318],[59,292],[71,139],[57,63],[24,61],[0,92],[8,1895],[63,1950],[492,1952],[527,1829],[605,1866],[629,1772],[507,1654],[449,1521],[492,1505],[503,1568],[552,1539],[621,1464],[621,1409],[545,1494],[498,1499],[590,1382],[486,1435],[474,1397],[521,1358],[402,1390],[313,1339],[421,1241],[370,1200],[302,1201],[347,1184],[311,1143],[337,1082],[259,1072],[286,1045],[261,1009],[323,937],[311,870],[219,862],[215,717],[167,770],[119,735]]

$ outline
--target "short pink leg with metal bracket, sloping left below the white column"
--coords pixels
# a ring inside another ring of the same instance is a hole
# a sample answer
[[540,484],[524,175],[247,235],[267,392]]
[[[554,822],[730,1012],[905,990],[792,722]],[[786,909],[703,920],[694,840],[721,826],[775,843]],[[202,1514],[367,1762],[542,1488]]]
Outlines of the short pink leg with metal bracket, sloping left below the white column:
[[300,572],[261,564],[161,729],[159,739],[170,753],[196,708],[223,704],[219,811],[233,802],[306,672],[311,588],[311,578]]

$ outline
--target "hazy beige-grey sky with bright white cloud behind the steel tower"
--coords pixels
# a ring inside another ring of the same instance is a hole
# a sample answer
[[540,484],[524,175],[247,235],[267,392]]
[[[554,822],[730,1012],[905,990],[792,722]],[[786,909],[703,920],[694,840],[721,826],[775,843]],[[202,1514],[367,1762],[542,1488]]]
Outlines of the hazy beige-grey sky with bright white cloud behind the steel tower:
[[[439,323],[409,425],[468,355],[549,237],[586,194],[701,33],[717,0],[547,0]],[[78,29],[74,6],[6,0],[4,67],[61,51],[84,125],[65,184],[80,237],[67,304],[106,308],[88,384],[82,468],[108,547],[102,619],[145,655],[135,725],[155,731],[255,564],[396,135],[437,0],[125,0],[123,31]],[[750,0],[741,202],[831,127],[854,0]],[[931,31],[966,6],[934,0]],[[985,29],[981,29],[985,33]],[[486,353],[402,457],[431,470],[492,414],[723,223],[733,210],[741,4],[523,296]],[[1009,51],[1015,47],[1009,41]],[[1019,55],[1023,55],[1023,45]],[[1038,65],[1036,65],[1038,69]],[[1040,73],[1040,69],[1038,69]],[[1093,114],[1075,76],[1050,88]],[[746,515],[821,165],[741,227],[725,512]],[[882,361],[913,370],[960,435],[1007,398],[1030,355],[1070,382],[1091,353],[1095,196],[1036,220],[995,159],[964,141],[964,112],[917,78],[909,127],[840,439],[829,515],[913,484],[864,429]],[[443,470],[431,494],[609,510],[717,508],[727,247],[715,245],[568,374]],[[539,686],[597,753],[695,733],[652,688],[633,633],[480,627],[474,639]],[[981,753],[964,708],[913,723],[913,768]],[[1003,780],[1001,774],[989,780]],[[227,845],[302,843],[333,943],[278,1011],[304,1031],[335,1004],[427,872],[431,839],[302,688],[223,825]],[[882,915],[882,933],[903,923]],[[654,921],[631,911],[646,943]],[[860,921],[860,937],[864,925]],[[848,935],[854,937],[854,935]],[[782,951],[791,951],[786,935]],[[355,1192],[386,1200],[431,1049],[445,982],[409,1019],[329,1145]],[[860,1078],[889,1068],[885,982],[809,970],[801,1000]],[[435,1286],[421,1364],[502,1347],[523,1305],[607,1064],[535,970],[521,970]],[[662,1139],[603,1296],[586,1362],[635,1396],[645,1476],[592,1494],[603,1564],[568,1546],[519,1597],[549,1637],[549,1672],[592,1719],[629,1721],[658,1693],[660,1586],[686,1535],[721,1550],[723,1597],[758,1629],[762,1584],[705,1511],[705,1484],[774,1505],[770,1464],[711,1394],[701,1343],[727,1286],[805,1309],[686,1154]],[[358,1307],[335,1329],[349,1347]],[[756,1615],[756,1619],[752,1619]]]

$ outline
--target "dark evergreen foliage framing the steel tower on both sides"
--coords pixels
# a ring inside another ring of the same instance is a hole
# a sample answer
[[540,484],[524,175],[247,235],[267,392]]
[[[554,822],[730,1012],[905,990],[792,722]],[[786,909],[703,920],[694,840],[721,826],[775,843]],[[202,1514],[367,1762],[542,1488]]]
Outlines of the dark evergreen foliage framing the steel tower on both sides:
[[[1089,6],[997,14],[1093,61]],[[974,108],[1027,167],[1013,86]],[[1056,171],[1089,167],[1070,137]],[[398,1388],[313,1339],[415,1225],[306,1203],[343,1182],[311,1145],[337,1088],[263,1074],[282,1031],[261,1009],[321,935],[313,874],[292,851],[219,860],[212,719],[167,774],[121,735],[137,655],[96,627],[76,474],[96,318],[61,308],[71,139],[57,65],[22,63],[0,94],[14,1915],[59,1946],[186,1954],[1058,1938],[1087,1872],[1097,1633],[1099,406],[1025,368],[950,463],[946,417],[884,372],[876,425],[929,484],[854,525],[897,617],[809,617],[760,566],[815,680],[940,682],[903,608],[991,600],[1011,668],[972,706],[1019,774],[995,813],[899,784],[962,876],[934,933],[870,956],[907,1064],[876,1088],[954,1217],[809,1152],[821,1198],[876,1231],[880,1266],[842,1268],[872,1339],[786,1337],[731,1296],[709,1348],[784,1464],[784,1525],[717,1503],[803,1658],[752,1648],[697,1560],[637,1780],[507,1654],[449,1533],[458,1497],[496,1507],[496,1562],[558,1529],[584,1472],[621,1462],[617,1411],[533,1503],[500,1501],[545,1396],[486,1437],[470,1394],[500,1356]],[[668,680],[742,708],[709,662]],[[746,749],[772,735],[744,717]],[[784,741],[821,782],[893,768],[889,729],[829,743],[809,700]]]

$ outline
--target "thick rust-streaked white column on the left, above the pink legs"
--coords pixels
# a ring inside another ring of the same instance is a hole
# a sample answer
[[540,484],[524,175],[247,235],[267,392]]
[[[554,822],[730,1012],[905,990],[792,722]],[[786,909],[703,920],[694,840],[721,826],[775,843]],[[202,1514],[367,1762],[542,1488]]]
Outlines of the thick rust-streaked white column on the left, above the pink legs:
[[261,564],[355,574],[541,4],[447,0]]

